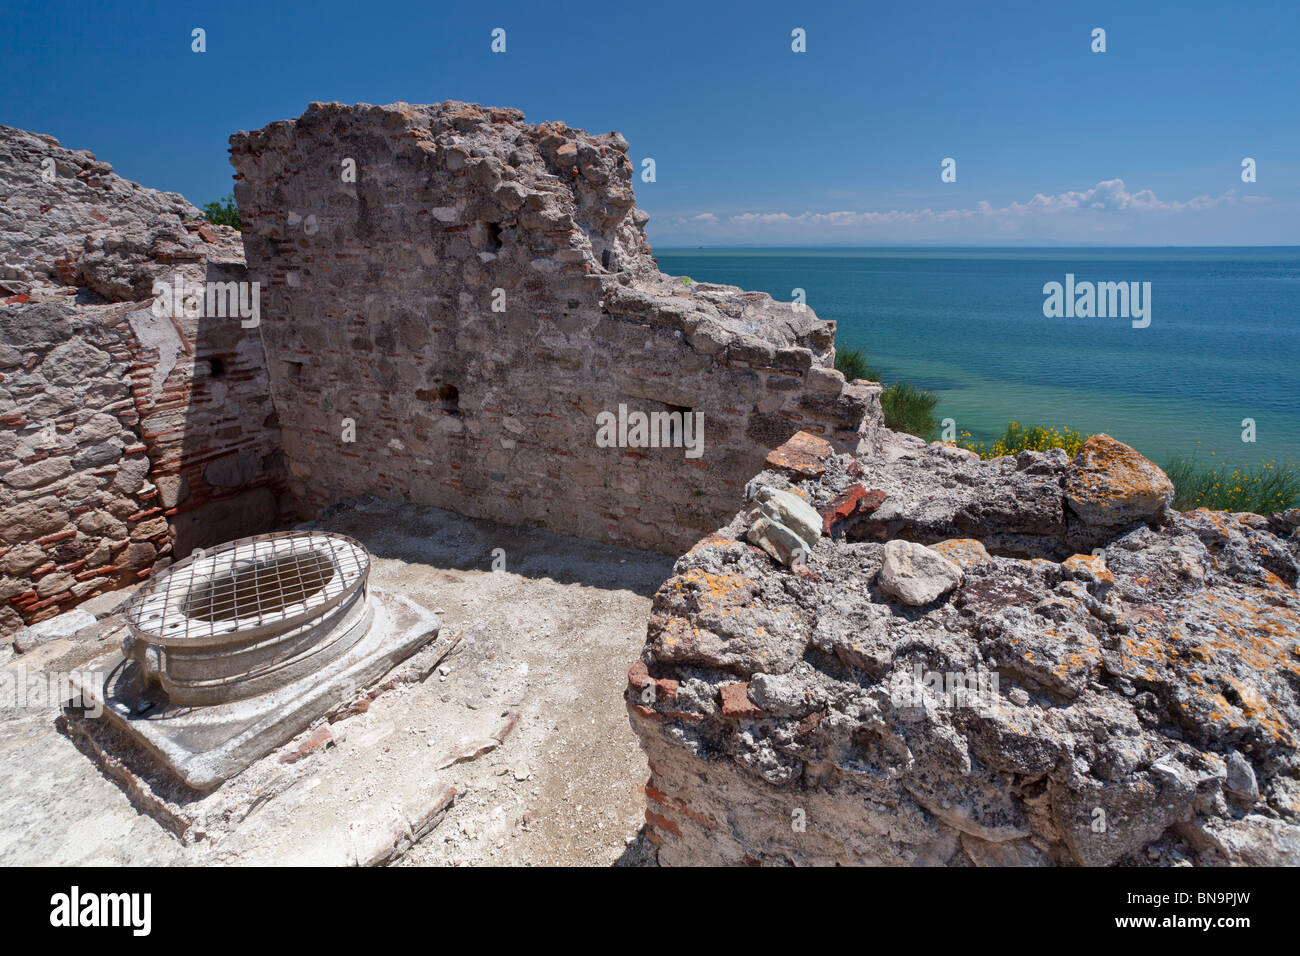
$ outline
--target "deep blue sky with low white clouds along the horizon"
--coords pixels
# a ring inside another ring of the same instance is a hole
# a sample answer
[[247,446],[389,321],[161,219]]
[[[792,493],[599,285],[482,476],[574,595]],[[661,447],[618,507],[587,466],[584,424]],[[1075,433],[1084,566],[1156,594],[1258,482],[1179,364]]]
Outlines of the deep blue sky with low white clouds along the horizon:
[[1295,0],[3,0],[0,122],[202,204],[237,129],[462,99],[623,131],[656,247],[1300,245],[1297,49]]

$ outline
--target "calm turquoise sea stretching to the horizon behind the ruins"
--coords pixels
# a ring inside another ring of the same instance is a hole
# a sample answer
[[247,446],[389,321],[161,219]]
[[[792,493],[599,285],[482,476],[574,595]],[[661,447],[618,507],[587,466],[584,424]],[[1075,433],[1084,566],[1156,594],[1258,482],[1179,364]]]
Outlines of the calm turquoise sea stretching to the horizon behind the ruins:
[[[1108,432],[1149,458],[1300,460],[1300,247],[672,250],[659,268],[790,300],[887,382],[991,440],[1009,420]],[[1048,319],[1046,282],[1150,282],[1150,325]],[[1242,441],[1254,419],[1256,442]],[[1212,455],[1213,453],[1213,455]]]

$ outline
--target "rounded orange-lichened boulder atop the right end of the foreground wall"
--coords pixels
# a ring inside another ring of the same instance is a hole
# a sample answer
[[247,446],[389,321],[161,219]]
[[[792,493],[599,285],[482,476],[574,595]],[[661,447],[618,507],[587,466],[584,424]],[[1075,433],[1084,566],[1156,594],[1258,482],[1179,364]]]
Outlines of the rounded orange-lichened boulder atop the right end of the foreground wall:
[[1065,494],[1086,524],[1123,527],[1160,520],[1174,499],[1174,483],[1123,442],[1095,434],[1066,468]]

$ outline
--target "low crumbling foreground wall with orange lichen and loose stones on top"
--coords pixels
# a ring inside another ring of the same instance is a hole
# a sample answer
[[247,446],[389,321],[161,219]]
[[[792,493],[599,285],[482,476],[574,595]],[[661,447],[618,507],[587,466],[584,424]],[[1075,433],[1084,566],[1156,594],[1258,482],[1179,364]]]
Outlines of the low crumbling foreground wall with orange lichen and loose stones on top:
[[659,862],[1300,864],[1300,510],[1173,512],[1106,436],[881,442],[754,479],[812,506],[806,564],[746,506],[655,596],[627,704]]

